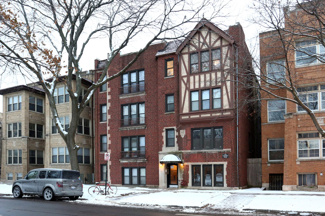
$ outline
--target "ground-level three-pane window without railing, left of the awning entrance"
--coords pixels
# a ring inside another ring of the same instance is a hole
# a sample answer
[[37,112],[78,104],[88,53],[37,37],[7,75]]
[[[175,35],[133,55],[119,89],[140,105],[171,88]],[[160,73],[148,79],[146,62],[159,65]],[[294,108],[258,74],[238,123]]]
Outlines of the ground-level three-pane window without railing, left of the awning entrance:
[[122,179],[123,185],[146,185],[146,168],[123,167]]

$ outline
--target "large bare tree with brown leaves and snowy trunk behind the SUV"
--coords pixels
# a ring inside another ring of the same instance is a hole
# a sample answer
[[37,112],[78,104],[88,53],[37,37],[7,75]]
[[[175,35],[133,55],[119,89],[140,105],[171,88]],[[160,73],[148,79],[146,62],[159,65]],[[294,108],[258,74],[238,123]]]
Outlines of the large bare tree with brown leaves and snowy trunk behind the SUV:
[[[59,134],[67,145],[71,168],[79,170],[75,133],[79,116],[94,91],[127,71],[153,41],[184,37],[187,23],[200,20],[204,11],[208,11],[210,18],[217,17],[225,5],[218,0],[198,3],[188,0],[1,0],[0,61],[6,73],[35,77],[42,85]],[[106,77],[114,57],[143,34],[148,38],[143,48],[121,71]],[[107,63],[100,78],[78,103],[82,91],[79,62],[88,42],[96,37],[107,38],[110,49]],[[64,79],[58,79],[64,72]],[[72,74],[75,74],[76,88],[72,86]],[[69,131],[62,127],[54,101],[58,82],[65,83],[71,98]]]

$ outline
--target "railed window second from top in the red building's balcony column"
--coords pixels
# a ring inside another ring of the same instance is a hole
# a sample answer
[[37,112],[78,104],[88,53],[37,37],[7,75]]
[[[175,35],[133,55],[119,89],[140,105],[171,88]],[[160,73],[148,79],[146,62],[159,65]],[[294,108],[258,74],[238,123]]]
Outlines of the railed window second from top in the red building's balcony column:
[[144,123],[144,103],[122,105],[122,126],[142,125]]

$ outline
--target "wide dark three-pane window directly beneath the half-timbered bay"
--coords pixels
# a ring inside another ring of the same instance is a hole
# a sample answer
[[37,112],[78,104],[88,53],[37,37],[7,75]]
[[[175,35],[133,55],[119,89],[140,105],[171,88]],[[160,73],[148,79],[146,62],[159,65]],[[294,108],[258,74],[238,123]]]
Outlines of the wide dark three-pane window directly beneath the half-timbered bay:
[[192,129],[192,150],[223,149],[222,128]]

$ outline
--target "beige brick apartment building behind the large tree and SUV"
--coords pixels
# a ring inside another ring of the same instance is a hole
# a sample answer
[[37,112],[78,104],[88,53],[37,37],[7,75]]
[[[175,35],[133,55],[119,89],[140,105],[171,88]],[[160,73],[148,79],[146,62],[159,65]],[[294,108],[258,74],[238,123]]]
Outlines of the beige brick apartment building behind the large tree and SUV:
[[[84,89],[91,84],[88,79],[82,80]],[[0,90],[3,95],[1,182],[21,179],[36,168],[71,168],[68,149],[40,87],[34,83]],[[84,89],[79,100],[82,100]],[[54,98],[62,126],[68,130],[72,111],[64,82],[57,84]],[[92,109],[91,101],[80,116],[75,136],[76,144],[80,146],[78,162],[84,183],[93,179]]]

